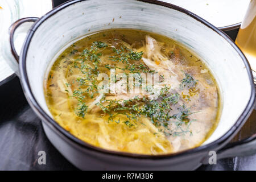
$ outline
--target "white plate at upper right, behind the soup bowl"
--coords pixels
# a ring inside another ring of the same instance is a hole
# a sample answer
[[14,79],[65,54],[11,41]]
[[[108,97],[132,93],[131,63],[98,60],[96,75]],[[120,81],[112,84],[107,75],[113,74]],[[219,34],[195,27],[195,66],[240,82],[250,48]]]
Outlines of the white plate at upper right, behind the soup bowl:
[[250,0],[162,0],[195,13],[222,30],[241,23]]

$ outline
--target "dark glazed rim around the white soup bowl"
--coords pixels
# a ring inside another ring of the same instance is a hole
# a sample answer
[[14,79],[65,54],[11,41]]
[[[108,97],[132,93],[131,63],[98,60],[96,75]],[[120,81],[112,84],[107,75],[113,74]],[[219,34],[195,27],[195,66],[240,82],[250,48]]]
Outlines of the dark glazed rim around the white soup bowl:
[[[224,32],[221,30],[218,30],[218,28],[214,27],[212,24],[207,22],[206,20],[200,18],[200,16],[197,16],[196,14],[191,13],[188,10],[185,10],[179,6],[172,5],[170,3],[162,2],[162,1],[155,1],[155,0],[136,0],[136,1],[141,1],[144,3],[151,3],[156,6],[164,6],[168,7],[170,9],[174,9],[177,11],[180,11],[181,13],[187,14],[188,16],[191,16],[193,19],[199,21],[200,23],[203,23],[205,26],[208,28],[211,28],[214,32],[222,36],[238,53],[238,55],[241,57],[243,60],[243,63],[245,64],[246,71],[248,73],[249,79],[250,79],[250,85],[251,85],[251,95],[250,95],[250,100],[247,103],[245,109],[243,110],[242,114],[240,117],[237,119],[236,123],[220,138],[217,140],[214,140],[213,142],[210,142],[208,144],[205,144],[203,146],[195,147],[189,150],[181,151],[181,152],[176,152],[173,154],[162,154],[162,155],[146,155],[146,154],[134,154],[134,153],[129,153],[129,152],[121,152],[121,151],[112,151],[112,150],[106,150],[104,148],[96,147],[93,146],[92,144],[86,143],[82,141],[79,138],[76,138],[74,135],[69,133],[67,130],[63,129],[54,119],[52,119],[40,106],[38,101],[36,101],[34,94],[32,93],[30,84],[28,82],[28,76],[27,76],[27,71],[26,71],[26,57],[27,57],[27,51],[28,47],[30,45],[31,39],[36,31],[36,29],[48,18],[51,16],[55,15],[57,12],[59,12],[62,9],[65,9],[68,6],[74,5],[75,3],[82,2],[86,0],[73,0],[73,1],[68,1],[65,2],[57,7],[55,9],[49,11],[46,15],[42,16],[40,19],[38,19],[33,26],[30,28],[28,31],[26,40],[23,44],[22,51],[20,53],[19,57],[19,71],[20,71],[20,82],[23,88],[23,92],[27,98],[28,104],[32,107],[32,109],[35,111],[35,113],[40,117],[40,119],[43,120],[43,122],[46,122],[47,125],[50,125],[55,129],[55,131],[59,132],[60,137],[64,138],[65,140],[69,139],[69,142],[75,142],[78,144],[78,146],[85,148],[86,150],[98,152],[101,154],[108,154],[108,155],[115,155],[115,156],[122,156],[126,158],[137,158],[137,159],[170,159],[170,158],[177,158],[178,156],[182,157],[185,155],[191,155],[195,154],[198,152],[207,152],[213,148],[220,148],[224,146],[226,142],[229,141],[231,137],[233,137],[234,134],[236,134],[236,131],[240,129],[240,127],[243,125],[245,122],[246,118],[249,116],[250,112],[253,109],[254,101],[255,101],[255,91],[254,91],[254,83],[253,83],[253,76],[251,73],[251,68],[250,65],[246,59],[246,57],[243,55],[242,51],[240,48],[234,44],[233,40],[230,39]],[[62,135],[61,135],[62,134]]]

